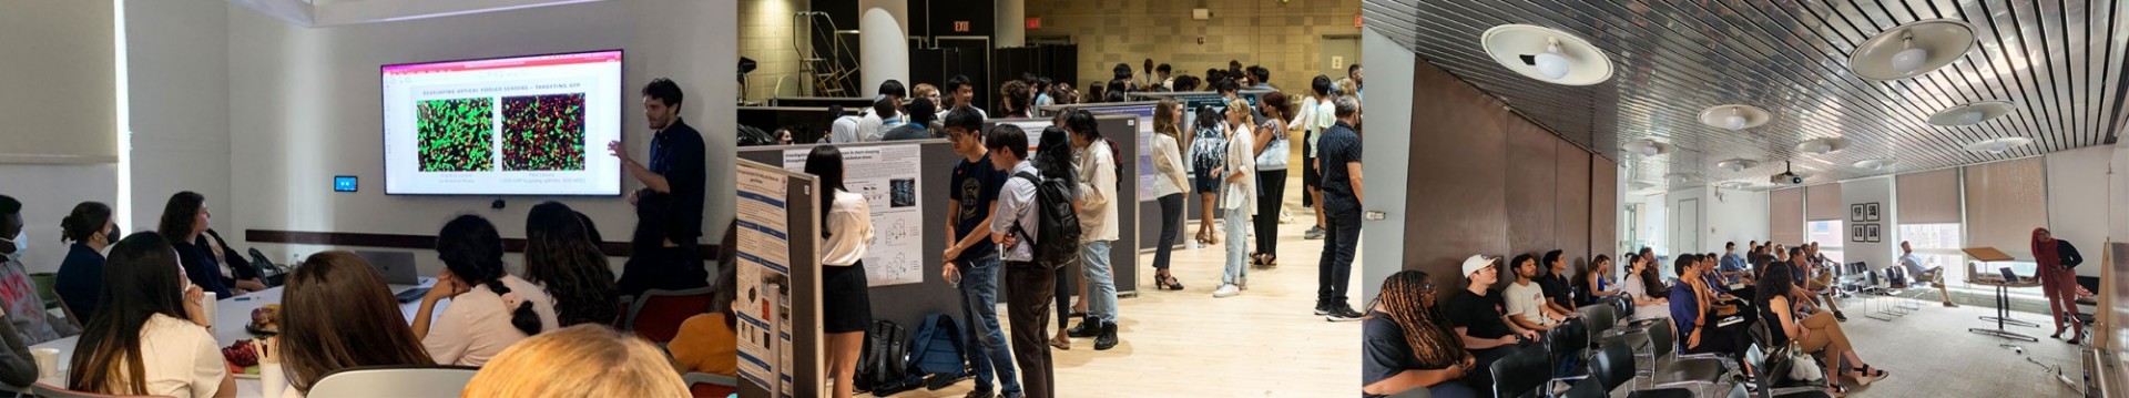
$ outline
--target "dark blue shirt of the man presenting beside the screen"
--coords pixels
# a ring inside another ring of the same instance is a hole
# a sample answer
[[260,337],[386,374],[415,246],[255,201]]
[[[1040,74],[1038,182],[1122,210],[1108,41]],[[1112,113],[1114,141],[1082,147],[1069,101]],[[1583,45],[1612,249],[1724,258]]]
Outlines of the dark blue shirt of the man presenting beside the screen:
[[664,177],[666,187],[673,189],[673,211],[664,219],[664,238],[679,245],[703,236],[703,179],[709,172],[703,153],[703,134],[679,117],[651,136],[651,162],[645,168]]

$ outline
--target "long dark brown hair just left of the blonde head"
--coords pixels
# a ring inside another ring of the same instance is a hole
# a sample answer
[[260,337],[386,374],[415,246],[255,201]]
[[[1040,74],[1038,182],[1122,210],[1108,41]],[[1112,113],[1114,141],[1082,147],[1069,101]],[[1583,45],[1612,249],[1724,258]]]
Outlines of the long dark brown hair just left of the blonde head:
[[302,260],[281,294],[281,355],[287,383],[311,383],[356,366],[436,364],[400,319],[385,277],[349,251]]

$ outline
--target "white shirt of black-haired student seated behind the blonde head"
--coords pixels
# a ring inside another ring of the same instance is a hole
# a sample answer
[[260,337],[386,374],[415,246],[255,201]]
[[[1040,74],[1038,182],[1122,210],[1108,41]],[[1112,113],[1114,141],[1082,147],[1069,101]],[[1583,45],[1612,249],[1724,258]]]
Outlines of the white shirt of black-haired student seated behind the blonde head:
[[[515,275],[502,275],[502,285],[511,287],[517,298],[532,302],[541,330],[554,330],[560,324],[554,317],[554,298],[547,298],[545,289]],[[511,326],[511,315],[502,309],[502,296],[488,285],[473,285],[466,294],[451,298],[451,306],[445,306],[436,324],[428,328],[422,347],[436,364],[488,364],[488,358],[526,338],[517,326]]]

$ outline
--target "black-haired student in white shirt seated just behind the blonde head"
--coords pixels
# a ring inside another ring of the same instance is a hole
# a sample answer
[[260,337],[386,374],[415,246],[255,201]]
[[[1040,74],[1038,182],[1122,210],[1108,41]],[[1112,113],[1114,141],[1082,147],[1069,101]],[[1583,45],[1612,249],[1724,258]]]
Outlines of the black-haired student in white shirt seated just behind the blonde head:
[[[422,296],[413,336],[436,364],[481,366],[526,336],[556,326],[554,300],[526,279],[505,272],[502,236],[479,215],[460,215],[436,232],[443,272]],[[451,306],[434,317],[436,302]]]

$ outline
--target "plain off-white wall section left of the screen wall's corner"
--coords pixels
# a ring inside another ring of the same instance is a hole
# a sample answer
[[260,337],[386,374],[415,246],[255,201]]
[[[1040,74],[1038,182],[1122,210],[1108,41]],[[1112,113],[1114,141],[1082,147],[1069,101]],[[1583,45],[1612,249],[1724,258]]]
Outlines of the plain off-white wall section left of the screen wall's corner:
[[228,9],[217,0],[126,0],[132,209],[121,211],[132,213],[132,226],[121,228],[155,230],[170,194],[198,192],[215,232],[243,234],[230,228],[243,215],[230,206]]

